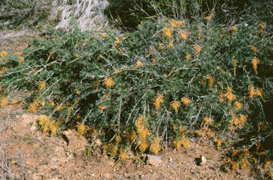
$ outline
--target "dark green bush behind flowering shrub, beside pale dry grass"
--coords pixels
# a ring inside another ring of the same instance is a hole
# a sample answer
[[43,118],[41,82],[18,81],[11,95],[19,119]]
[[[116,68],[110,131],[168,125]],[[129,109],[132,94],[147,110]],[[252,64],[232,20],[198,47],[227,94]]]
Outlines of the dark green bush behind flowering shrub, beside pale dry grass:
[[204,5],[203,0],[109,0],[109,3],[107,16],[114,18],[114,23],[121,28],[134,29],[147,17],[159,14],[169,18],[181,17],[185,14],[191,17],[196,11],[194,5],[200,9]]

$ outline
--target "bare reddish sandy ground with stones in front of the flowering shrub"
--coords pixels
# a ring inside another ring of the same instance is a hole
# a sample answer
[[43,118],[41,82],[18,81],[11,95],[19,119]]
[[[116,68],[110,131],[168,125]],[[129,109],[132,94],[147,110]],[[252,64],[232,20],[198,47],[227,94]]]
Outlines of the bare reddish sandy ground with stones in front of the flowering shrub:
[[[0,179],[256,179],[250,166],[225,166],[225,149],[200,142],[166,149],[158,166],[132,159],[117,164],[99,151],[87,157],[85,137],[77,140],[72,129],[59,137],[42,134],[38,117],[16,105],[0,109]],[[200,155],[208,160],[205,166],[195,162]]]

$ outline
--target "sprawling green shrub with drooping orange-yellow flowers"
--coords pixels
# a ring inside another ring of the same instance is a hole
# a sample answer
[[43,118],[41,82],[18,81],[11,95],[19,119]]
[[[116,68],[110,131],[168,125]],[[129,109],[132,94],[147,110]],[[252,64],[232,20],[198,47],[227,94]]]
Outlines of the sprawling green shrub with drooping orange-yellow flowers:
[[11,92],[28,90],[28,112],[46,110],[43,132],[74,125],[80,137],[93,127],[119,159],[131,147],[186,148],[190,136],[217,147],[237,132],[266,139],[273,44],[265,29],[218,25],[213,16],[150,19],[132,33],[48,29],[22,57],[2,53],[1,107]]

